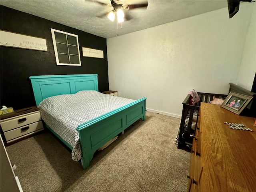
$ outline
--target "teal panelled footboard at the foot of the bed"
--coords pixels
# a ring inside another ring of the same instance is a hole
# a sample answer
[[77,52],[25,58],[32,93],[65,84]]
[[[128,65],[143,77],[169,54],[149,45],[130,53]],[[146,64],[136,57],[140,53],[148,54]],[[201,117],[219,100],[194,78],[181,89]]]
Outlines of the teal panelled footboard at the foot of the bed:
[[145,115],[146,97],[79,125],[76,130],[80,137],[83,168],[88,168],[98,148],[136,120],[145,120]]

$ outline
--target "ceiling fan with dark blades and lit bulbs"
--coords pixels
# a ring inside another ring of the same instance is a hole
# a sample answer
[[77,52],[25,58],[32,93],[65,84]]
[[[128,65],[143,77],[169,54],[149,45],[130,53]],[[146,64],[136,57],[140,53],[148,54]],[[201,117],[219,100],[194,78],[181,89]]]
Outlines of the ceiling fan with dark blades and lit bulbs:
[[[145,0],[144,3],[141,4],[123,4],[120,0],[110,0],[109,4],[104,4],[102,2],[97,3],[104,5],[104,6],[112,6],[113,10],[110,12],[106,12],[102,14],[101,16],[98,16],[100,18],[105,17],[108,15],[108,19],[111,21],[115,20],[115,17],[117,16],[118,23],[123,22],[124,20],[131,20],[132,16],[128,14],[128,10],[136,9],[136,8],[147,8],[148,7],[148,1]],[[125,14],[124,14],[125,12]]]

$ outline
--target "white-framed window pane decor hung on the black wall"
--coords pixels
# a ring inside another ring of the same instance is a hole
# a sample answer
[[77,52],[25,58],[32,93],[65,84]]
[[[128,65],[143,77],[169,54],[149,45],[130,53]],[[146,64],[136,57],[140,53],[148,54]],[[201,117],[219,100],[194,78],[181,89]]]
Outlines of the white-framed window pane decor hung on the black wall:
[[78,36],[51,29],[57,65],[81,66]]

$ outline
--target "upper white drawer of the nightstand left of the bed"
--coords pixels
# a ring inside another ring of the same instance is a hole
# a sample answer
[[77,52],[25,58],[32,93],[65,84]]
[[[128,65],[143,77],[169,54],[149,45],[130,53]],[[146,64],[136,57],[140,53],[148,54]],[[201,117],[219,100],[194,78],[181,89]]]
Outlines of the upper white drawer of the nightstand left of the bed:
[[25,126],[34,122],[38,122],[41,120],[40,112],[36,111],[30,114],[24,114],[12,118],[8,118],[6,120],[1,120],[0,124],[3,132]]

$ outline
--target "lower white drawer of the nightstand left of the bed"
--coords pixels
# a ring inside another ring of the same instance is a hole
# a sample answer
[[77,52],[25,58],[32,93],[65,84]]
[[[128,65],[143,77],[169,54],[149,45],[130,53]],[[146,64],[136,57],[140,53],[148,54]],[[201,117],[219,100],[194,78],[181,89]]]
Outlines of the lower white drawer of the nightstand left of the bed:
[[18,138],[20,136],[29,134],[31,132],[41,130],[43,128],[44,128],[44,126],[42,124],[42,121],[39,121],[39,122],[35,122],[35,123],[29,124],[26,126],[22,126],[20,128],[14,129],[14,130],[4,132],[4,136],[6,138],[6,141],[8,142],[9,140]]

